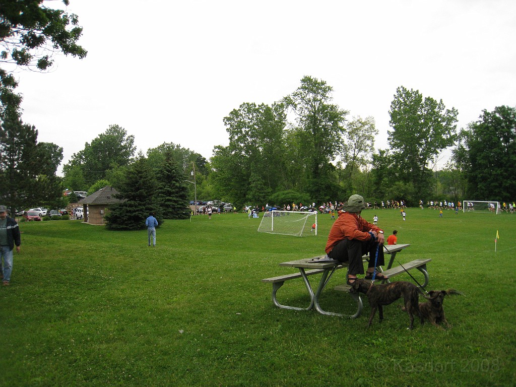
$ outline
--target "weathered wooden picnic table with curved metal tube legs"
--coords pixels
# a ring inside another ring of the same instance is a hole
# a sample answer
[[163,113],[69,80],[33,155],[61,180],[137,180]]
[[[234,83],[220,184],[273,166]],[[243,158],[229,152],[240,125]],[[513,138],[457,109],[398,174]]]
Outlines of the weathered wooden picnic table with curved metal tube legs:
[[[418,260],[414,260],[414,261],[405,263],[405,264],[403,264],[403,267],[405,267],[405,269],[402,268],[401,266],[396,266],[394,268],[392,267],[392,264],[394,262],[396,254],[399,251],[401,251],[409,246],[410,246],[410,244],[384,246],[384,253],[390,254],[391,259],[389,261],[389,264],[388,264],[386,270],[383,270],[381,267],[378,267],[378,270],[383,273],[383,275],[387,278],[386,281],[389,282],[389,280],[391,278],[399,275],[400,273],[405,272],[405,270],[408,271],[411,269],[418,269],[425,276],[425,281],[424,281],[424,284],[422,285],[423,287],[425,287],[426,285],[428,285],[428,280],[429,280],[426,264],[428,262],[430,262],[431,259],[418,259]],[[350,293],[351,297],[357,303],[357,312],[354,313],[353,315],[344,315],[341,313],[327,312],[327,311],[323,310],[319,305],[320,294],[325,289],[326,285],[328,284],[331,277],[333,276],[333,273],[335,272],[335,270],[339,270],[344,267],[347,267],[347,264],[331,260],[331,259],[329,259],[328,255],[320,255],[320,256],[313,257],[313,258],[309,258],[309,259],[283,262],[283,263],[280,263],[280,266],[295,267],[295,268],[299,269],[299,272],[291,273],[291,274],[287,274],[287,275],[283,275],[283,276],[264,278],[262,280],[262,282],[265,282],[265,283],[272,283],[272,302],[278,308],[292,309],[292,310],[311,310],[312,308],[315,307],[315,309],[319,313],[324,314],[324,315],[341,316],[341,317],[345,316],[345,317],[350,317],[350,318],[356,318],[356,317],[360,316],[360,314],[362,313],[363,304],[362,304],[362,299],[359,294],[351,294]],[[305,269],[309,269],[309,270],[305,270]],[[319,285],[314,293],[312,286],[310,284],[310,281],[308,280],[308,277],[316,275],[316,274],[322,274],[322,276],[319,281]],[[308,294],[310,296],[310,304],[308,305],[307,308],[299,308],[299,307],[294,307],[294,306],[290,306],[290,305],[283,305],[278,301],[278,298],[277,298],[278,289],[280,289],[281,286],[283,286],[283,284],[286,281],[293,280],[296,278],[303,279],[304,284],[307,288]],[[334,289],[337,291],[349,292],[349,287],[350,286],[347,284],[342,284],[342,285],[337,285]]]

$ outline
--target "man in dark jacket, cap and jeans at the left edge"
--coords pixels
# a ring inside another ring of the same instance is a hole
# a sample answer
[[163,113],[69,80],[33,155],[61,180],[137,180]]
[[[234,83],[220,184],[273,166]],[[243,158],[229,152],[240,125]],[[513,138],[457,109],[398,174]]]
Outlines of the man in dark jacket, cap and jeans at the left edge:
[[0,277],[4,286],[9,286],[12,271],[12,250],[20,252],[20,228],[18,223],[7,216],[7,208],[0,205]]

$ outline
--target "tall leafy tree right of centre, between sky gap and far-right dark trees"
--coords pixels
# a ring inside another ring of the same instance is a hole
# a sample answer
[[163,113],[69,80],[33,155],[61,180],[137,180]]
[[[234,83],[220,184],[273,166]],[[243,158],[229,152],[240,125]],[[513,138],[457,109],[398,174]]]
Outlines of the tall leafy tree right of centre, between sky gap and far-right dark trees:
[[[396,89],[389,110],[392,130],[389,145],[396,161],[399,178],[412,185],[415,197],[426,198],[431,192],[431,171],[427,168],[432,157],[453,145],[456,139],[458,111],[446,109],[439,102],[425,97],[418,90],[403,86]],[[409,200],[409,198],[404,198]]]

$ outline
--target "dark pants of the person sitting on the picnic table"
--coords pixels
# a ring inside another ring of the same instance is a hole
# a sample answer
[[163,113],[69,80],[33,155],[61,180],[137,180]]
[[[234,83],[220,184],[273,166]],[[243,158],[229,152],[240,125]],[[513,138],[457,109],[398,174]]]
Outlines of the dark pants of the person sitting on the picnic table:
[[[375,267],[376,250],[378,243],[375,240],[362,241],[357,239],[343,239],[337,243],[333,250],[328,253],[332,260],[348,264],[348,274],[354,276],[364,274],[362,255],[369,253],[369,264],[367,267]],[[378,249],[378,260],[376,266],[383,266],[383,246]]]

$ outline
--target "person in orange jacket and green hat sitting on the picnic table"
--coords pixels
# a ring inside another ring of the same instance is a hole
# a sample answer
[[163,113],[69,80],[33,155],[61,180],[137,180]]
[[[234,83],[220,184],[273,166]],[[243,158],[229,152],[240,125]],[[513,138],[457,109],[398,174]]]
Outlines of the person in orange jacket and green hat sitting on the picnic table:
[[[378,245],[380,246],[376,266],[385,264],[383,231],[360,216],[364,208],[364,198],[360,195],[351,195],[333,223],[326,244],[326,253],[332,260],[348,263],[348,285],[357,279],[358,274],[364,273],[362,255],[366,253],[369,253],[369,265],[365,278],[373,278]],[[376,273],[376,279],[383,279],[381,272]]]

